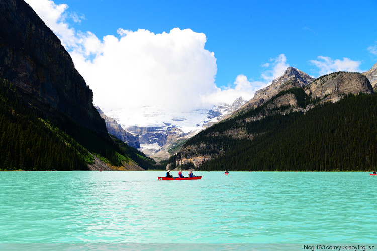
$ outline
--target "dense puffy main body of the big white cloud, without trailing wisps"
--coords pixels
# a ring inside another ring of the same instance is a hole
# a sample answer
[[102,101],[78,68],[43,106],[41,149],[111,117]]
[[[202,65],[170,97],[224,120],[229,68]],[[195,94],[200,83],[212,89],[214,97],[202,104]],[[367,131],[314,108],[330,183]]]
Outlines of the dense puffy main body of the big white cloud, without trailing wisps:
[[201,96],[216,90],[216,58],[204,49],[203,33],[174,28],[161,34],[120,29],[118,34],[101,41],[90,34],[82,42],[85,50],[71,53],[101,108],[195,109]]

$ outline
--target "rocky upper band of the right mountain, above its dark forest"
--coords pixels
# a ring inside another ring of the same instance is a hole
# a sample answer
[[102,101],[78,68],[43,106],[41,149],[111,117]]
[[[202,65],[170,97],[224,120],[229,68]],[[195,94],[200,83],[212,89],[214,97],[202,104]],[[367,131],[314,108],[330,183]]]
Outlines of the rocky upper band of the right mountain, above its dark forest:
[[[358,93],[373,93],[369,80],[360,73],[347,72],[325,75],[304,87],[281,91],[261,106],[248,111],[242,107],[241,112],[235,112],[232,117],[191,138],[177,155],[170,158],[166,168],[174,169],[179,166],[201,168],[204,163],[213,163],[219,156],[226,155],[228,151],[231,151],[231,146],[238,146],[242,142],[249,145],[248,142],[266,134],[268,132],[266,128],[270,127],[266,124],[265,129],[259,128],[257,131],[251,132],[248,129],[250,124],[265,124],[263,121],[267,118],[283,119],[293,113],[306,114],[317,106],[335,103],[347,95]],[[271,124],[275,123],[277,126],[276,121]],[[277,130],[277,128],[270,130]],[[201,138],[203,140],[200,140]]]

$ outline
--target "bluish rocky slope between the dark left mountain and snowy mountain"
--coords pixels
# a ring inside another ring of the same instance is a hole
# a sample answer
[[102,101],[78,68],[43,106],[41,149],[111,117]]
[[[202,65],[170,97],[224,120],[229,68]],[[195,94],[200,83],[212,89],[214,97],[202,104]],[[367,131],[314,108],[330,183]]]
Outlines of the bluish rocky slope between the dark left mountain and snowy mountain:
[[131,147],[136,149],[140,148],[139,135],[134,135],[127,132],[121,127],[120,124],[117,123],[115,119],[106,116],[99,107],[96,108],[100,116],[105,120],[106,128],[108,129],[109,134],[114,135]]

